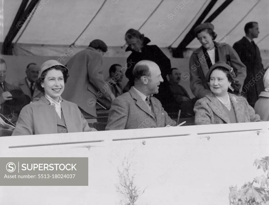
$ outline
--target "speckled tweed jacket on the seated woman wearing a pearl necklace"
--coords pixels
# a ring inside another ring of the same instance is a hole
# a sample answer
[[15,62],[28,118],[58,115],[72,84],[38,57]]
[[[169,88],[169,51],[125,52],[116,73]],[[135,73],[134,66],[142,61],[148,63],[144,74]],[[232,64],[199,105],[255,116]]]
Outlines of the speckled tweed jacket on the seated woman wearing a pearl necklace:
[[[237,123],[262,121],[244,97],[231,93],[228,94],[232,102],[231,106],[233,106],[235,111]],[[206,97],[197,100],[193,110],[195,112],[195,125],[231,123],[221,102],[213,93],[207,94]]]

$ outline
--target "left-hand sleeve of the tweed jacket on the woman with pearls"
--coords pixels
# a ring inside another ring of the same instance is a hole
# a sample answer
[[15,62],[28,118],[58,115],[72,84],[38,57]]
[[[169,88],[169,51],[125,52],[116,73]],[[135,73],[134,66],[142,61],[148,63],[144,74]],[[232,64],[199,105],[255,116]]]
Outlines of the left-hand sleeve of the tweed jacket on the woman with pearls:
[[193,111],[195,113],[195,125],[212,125],[211,123],[211,108],[207,102],[202,98],[196,101]]

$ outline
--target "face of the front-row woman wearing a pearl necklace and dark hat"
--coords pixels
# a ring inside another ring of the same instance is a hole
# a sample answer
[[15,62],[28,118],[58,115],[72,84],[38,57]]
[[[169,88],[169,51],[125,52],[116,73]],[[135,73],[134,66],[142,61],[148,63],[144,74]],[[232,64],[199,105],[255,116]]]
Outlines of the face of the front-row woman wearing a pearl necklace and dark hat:
[[210,75],[209,85],[213,94],[216,96],[223,96],[227,93],[231,82],[229,82],[225,72],[215,69]]

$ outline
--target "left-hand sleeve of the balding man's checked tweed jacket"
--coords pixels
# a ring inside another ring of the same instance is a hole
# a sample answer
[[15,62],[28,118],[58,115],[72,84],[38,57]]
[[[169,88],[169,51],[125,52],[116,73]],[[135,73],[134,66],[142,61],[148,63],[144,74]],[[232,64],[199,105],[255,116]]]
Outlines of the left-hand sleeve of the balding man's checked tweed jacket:
[[105,130],[124,130],[129,115],[129,103],[124,96],[112,101]]

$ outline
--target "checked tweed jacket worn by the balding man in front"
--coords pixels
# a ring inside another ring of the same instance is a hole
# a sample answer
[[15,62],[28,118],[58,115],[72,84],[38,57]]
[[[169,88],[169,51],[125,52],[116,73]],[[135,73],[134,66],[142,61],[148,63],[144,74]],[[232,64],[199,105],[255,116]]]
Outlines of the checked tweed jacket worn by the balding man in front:
[[112,102],[105,130],[176,126],[176,122],[164,111],[161,102],[152,96],[150,100],[156,118],[139,94],[131,87],[128,92],[123,93]]

